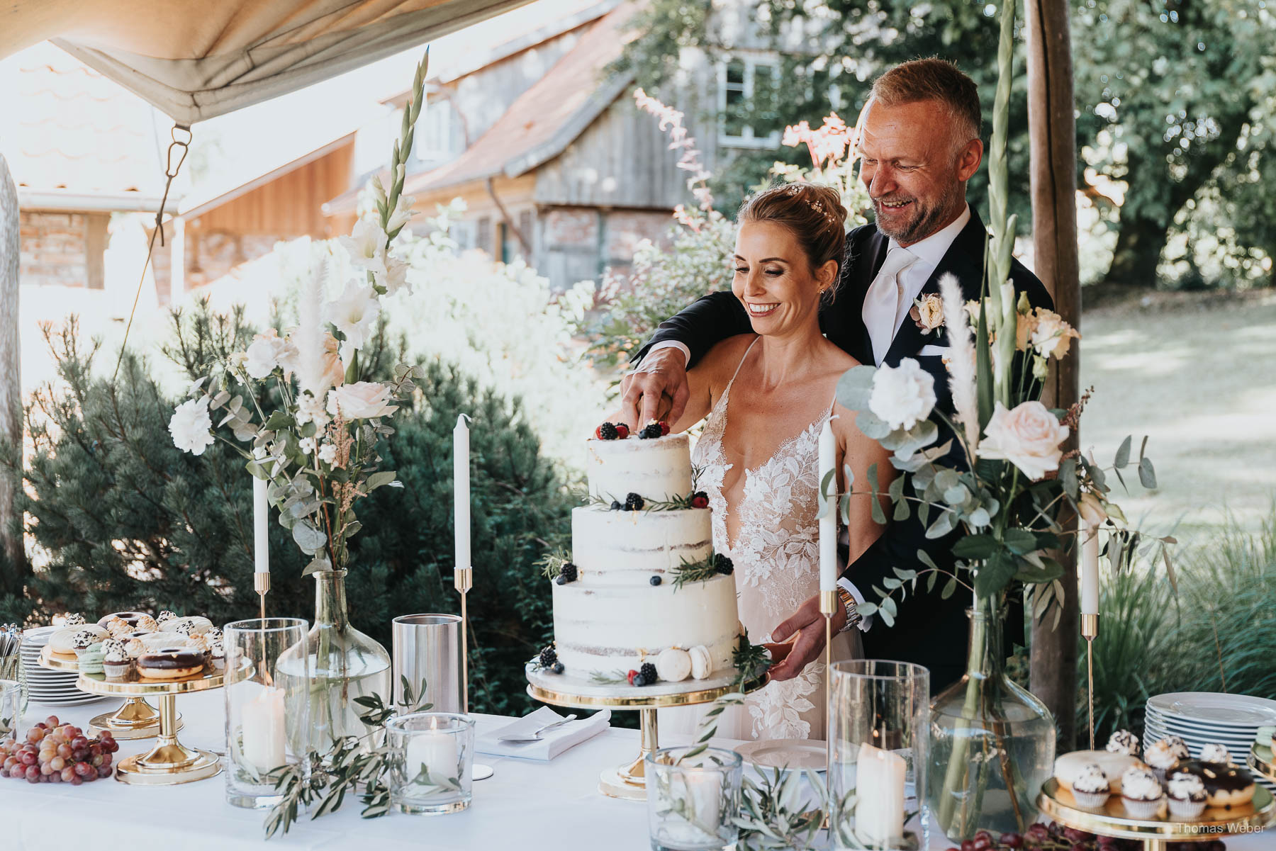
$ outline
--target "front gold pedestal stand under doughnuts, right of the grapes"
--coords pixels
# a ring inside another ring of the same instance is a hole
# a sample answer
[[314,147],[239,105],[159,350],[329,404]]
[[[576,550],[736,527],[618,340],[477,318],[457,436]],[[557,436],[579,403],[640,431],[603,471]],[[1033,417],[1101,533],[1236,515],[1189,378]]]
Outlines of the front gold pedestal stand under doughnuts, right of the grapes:
[[188,748],[177,741],[179,694],[207,692],[222,685],[222,672],[205,665],[204,670],[180,680],[148,680],[129,671],[122,680],[108,680],[105,674],[80,674],[75,686],[89,694],[120,694],[130,698],[154,695],[160,703],[160,739],[154,748],[137,757],[121,759],[115,780],[139,786],[175,786],[213,777],[222,769],[221,758],[208,750]]

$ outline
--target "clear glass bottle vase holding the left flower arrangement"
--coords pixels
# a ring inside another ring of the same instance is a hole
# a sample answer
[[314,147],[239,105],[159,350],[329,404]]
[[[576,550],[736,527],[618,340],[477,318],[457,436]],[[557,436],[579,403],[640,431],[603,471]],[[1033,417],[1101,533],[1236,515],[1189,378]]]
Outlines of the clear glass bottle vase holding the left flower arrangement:
[[346,572],[320,570],[315,578],[315,621],[306,644],[310,670],[310,746],[324,751],[334,739],[364,736],[370,727],[355,698],[380,695],[389,704],[390,655],[350,625]]

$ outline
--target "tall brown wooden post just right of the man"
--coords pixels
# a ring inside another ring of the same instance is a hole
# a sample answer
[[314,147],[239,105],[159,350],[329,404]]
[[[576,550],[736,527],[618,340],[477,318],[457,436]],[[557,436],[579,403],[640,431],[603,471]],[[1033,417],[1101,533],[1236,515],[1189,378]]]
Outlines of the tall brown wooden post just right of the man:
[[[1081,279],[1077,273],[1077,144],[1072,98],[1072,38],[1067,0],[1025,0],[1028,48],[1028,135],[1032,153],[1032,241],[1037,277],[1054,307],[1081,327]],[[1079,346],[1050,369],[1049,407],[1067,408],[1079,394]],[[1065,449],[1077,447],[1073,434]],[[1076,518],[1065,528],[1076,529]],[[1071,540],[1071,538],[1069,538]],[[1059,744],[1076,743],[1077,707],[1077,547],[1058,554],[1064,566],[1063,616],[1053,629],[1048,612],[1032,628],[1031,688],[1059,723]]]

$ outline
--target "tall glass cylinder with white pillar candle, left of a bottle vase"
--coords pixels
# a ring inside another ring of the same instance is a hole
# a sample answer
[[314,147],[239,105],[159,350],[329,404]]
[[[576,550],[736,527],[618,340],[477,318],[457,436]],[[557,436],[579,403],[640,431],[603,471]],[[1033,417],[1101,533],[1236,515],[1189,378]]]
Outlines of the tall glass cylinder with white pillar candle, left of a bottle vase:
[[274,778],[305,766],[310,749],[308,624],[297,618],[226,625],[226,800],[260,809],[279,801]]

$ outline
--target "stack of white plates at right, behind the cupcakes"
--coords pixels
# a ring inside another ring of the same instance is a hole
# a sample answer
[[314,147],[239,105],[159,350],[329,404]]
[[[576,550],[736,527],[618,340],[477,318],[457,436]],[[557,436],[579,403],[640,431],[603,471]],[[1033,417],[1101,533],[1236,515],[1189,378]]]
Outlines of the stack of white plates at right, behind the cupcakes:
[[[1193,758],[1208,744],[1225,745],[1231,759],[1244,766],[1258,727],[1276,726],[1276,700],[1248,694],[1175,692],[1150,698],[1146,707],[1143,749],[1166,736],[1179,736]],[[1276,783],[1259,778],[1276,792]]]

